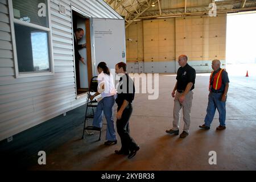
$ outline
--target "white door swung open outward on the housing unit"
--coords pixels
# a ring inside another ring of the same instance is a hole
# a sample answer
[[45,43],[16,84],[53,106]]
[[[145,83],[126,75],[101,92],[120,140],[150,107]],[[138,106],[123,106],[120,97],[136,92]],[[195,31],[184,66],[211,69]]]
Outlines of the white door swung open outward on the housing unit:
[[93,18],[93,36],[95,68],[104,61],[113,73],[115,64],[126,63],[125,20]]

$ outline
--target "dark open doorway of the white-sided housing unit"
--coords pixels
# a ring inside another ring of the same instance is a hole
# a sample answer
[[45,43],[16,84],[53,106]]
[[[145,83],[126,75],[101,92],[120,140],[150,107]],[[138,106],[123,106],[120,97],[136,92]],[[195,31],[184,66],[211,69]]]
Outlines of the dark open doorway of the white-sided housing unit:
[[[92,52],[91,52],[91,37],[90,37],[90,19],[86,18],[77,11],[72,10],[73,36],[76,39],[75,32],[77,28],[82,28],[84,34],[82,38],[77,40],[77,44],[86,44],[86,47],[79,47],[79,54],[84,58],[84,63],[75,56],[75,75],[76,75],[76,93],[81,96],[88,92],[89,82],[92,78]],[[76,46],[74,40],[74,47]]]

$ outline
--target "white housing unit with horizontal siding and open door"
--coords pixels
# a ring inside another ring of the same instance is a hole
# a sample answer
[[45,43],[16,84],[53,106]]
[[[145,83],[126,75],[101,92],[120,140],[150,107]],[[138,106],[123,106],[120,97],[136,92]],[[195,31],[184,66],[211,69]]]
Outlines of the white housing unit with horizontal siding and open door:
[[0,0],[0,140],[85,104],[73,43],[81,19],[86,79],[100,61],[126,61],[125,22],[103,0]]

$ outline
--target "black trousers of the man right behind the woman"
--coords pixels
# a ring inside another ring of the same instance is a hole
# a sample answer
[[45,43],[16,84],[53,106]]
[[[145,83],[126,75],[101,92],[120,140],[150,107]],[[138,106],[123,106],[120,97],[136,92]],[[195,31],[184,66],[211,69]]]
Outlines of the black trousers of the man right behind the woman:
[[[117,107],[117,111],[120,107],[121,106]],[[131,117],[131,113],[133,113],[133,106],[129,103],[125,110],[123,110],[121,119],[117,119],[117,133],[121,138],[122,151],[133,150],[137,147],[133,138],[130,137],[129,119]]]

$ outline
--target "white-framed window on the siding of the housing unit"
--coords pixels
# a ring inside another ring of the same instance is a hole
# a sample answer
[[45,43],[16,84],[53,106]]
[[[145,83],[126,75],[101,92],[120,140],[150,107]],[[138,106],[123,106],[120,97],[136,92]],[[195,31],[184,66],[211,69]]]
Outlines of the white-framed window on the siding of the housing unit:
[[9,5],[16,76],[53,73],[48,0],[9,0]]

